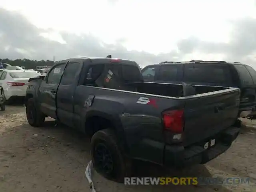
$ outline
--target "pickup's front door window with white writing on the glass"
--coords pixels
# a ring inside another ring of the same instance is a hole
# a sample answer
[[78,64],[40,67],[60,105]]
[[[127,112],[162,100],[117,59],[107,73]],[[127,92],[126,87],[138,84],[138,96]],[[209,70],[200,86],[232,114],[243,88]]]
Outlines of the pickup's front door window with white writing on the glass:
[[62,73],[64,71],[64,68],[66,66],[66,63],[59,64],[52,68],[52,70],[49,72],[46,83],[47,84],[59,84],[60,78],[62,76]]

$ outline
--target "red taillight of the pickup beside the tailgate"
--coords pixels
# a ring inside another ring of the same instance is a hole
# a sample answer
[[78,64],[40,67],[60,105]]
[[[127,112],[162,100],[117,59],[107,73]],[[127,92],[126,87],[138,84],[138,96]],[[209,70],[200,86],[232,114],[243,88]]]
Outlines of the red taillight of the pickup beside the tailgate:
[[163,113],[164,129],[170,130],[174,133],[183,132],[183,121],[184,110],[171,110]]

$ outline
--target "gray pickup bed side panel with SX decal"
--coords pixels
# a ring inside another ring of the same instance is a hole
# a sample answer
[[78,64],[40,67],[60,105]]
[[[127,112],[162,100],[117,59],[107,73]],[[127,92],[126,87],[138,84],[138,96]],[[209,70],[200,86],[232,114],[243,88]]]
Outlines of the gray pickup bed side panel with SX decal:
[[[74,110],[77,120],[86,119],[79,114],[90,116],[98,113],[110,116],[116,124],[118,137],[125,141],[130,156],[162,163],[164,138],[161,112],[168,108],[182,108],[182,100],[90,86],[78,86],[75,95]],[[95,96],[92,106],[81,108],[88,95]],[[138,102],[139,99],[141,102]]]

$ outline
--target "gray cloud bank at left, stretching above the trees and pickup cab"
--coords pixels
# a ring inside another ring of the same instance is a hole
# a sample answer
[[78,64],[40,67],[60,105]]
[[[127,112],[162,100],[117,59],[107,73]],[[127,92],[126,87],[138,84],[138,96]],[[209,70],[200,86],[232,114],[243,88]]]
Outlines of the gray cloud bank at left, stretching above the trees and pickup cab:
[[107,56],[127,58],[137,61],[142,66],[156,63],[162,60],[172,60],[177,57],[177,52],[154,55],[136,50],[128,51],[120,39],[116,44],[106,44],[98,38],[84,34],[78,36],[67,32],[61,32],[66,44],[42,37],[40,34],[52,31],[36,28],[28,20],[17,12],[0,8],[0,58],[29,58],[58,60],[74,56]]

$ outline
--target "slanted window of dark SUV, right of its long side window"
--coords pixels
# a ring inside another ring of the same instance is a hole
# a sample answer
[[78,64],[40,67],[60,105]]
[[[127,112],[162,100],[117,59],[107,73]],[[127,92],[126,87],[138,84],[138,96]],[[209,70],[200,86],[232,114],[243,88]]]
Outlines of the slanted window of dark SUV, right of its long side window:
[[245,66],[236,64],[234,65],[234,67],[236,68],[240,77],[241,86],[252,86],[254,84],[252,77],[249,71],[245,68]]

